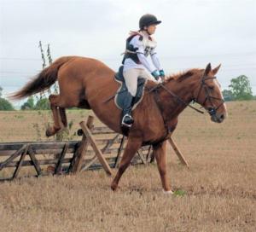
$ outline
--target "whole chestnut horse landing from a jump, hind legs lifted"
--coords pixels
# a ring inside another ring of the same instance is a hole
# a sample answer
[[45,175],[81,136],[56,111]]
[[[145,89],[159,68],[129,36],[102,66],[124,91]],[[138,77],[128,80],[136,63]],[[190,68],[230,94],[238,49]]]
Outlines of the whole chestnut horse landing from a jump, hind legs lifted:
[[[167,77],[162,84],[148,81],[143,101],[132,113],[135,121],[129,131],[119,170],[111,184],[113,190],[118,187],[120,177],[137,150],[144,144],[152,144],[163,190],[172,193],[166,175],[166,138],[175,130],[178,114],[185,107],[191,107],[191,101],[201,104],[213,122],[221,123],[224,120],[227,110],[220,85],[215,78],[219,67],[220,65],[212,69],[211,64],[208,64],[206,69],[190,69]],[[67,126],[67,107],[92,109],[105,125],[122,133],[121,111],[111,98],[119,89],[119,83],[113,77],[113,70],[101,61],[65,56],[44,68],[36,78],[14,93],[12,98],[32,96],[49,89],[58,80],[60,94],[49,96],[54,125],[46,131],[46,136],[53,136]]]

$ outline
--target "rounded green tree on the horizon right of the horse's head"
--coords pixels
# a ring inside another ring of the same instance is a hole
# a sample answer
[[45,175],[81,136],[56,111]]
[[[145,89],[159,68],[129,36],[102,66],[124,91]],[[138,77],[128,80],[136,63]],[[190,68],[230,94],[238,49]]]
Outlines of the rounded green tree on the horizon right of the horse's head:
[[241,75],[237,78],[232,78],[229,87],[236,100],[253,99],[252,87],[247,76]]

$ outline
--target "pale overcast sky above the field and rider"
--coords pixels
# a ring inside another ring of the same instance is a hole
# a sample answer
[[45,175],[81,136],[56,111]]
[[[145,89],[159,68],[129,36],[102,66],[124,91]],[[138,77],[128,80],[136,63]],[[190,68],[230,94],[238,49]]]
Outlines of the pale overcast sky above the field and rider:
[[154,38],[167,74],[222,64],[218,80],[246,75],[256,95],[256,0],[0,0],[0,86],[19,90],[42,70],[39,41],[53,59],[93,57],[113,70],[143,14],[162,23]]

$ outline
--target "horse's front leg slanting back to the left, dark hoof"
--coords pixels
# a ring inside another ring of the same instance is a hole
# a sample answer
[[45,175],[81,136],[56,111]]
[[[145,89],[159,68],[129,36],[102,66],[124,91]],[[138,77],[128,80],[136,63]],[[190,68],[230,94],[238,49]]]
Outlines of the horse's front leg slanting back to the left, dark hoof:
[[126,168],[130,165],[131,159],[137,153],[137,150],[141,148],[141,146],[142,146],[141,139],[128,137],[128,142],[125,148],[125,152],[119,164],[119,171],[117,172],[116,176],[113,179],[113,182],[111,183],[111,188],[113,190],[116,190],[116,188],[118,188],[120,177],[122,177]]

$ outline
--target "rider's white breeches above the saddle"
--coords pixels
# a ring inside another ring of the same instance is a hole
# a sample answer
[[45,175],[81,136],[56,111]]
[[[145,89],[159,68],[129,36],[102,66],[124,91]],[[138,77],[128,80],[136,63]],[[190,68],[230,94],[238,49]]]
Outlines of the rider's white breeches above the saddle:
[[143,68],[131,68],[124,71],[125,84],[131,96],[136,96],[137,93],[137,78],[145,78],[157,82],[154,77]]

